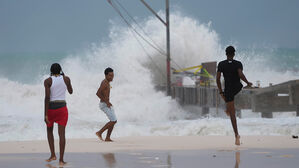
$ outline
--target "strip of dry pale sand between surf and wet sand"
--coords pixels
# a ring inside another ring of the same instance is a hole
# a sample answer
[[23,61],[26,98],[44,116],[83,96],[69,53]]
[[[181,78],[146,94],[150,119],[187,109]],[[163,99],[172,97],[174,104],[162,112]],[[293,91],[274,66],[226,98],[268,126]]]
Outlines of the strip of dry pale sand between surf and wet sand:
[[[120,152],[138,150],[203,150],[203,149],[294,149],[299,139],[291,136],[241,136],[241,145],[234,144],[233,136],[130,136],[103,142],[98,138],[67,139],[66,153]],[[55,149],[58,149],[55,140]],[[0,142],[0,154],[48,153],[47,140]]]

